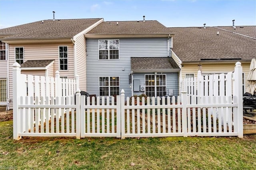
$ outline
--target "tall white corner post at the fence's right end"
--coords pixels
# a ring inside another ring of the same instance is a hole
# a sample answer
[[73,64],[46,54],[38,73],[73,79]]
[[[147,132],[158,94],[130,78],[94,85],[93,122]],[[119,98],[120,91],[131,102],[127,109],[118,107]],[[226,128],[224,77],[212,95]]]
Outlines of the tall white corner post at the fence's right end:
[[237,131],[238,137],[243,137],[243,94],[242,94],[242,66],[238,61],[236,62],[236,67],[234,71],[234,96],[237,97],[238,107],[237,107]]

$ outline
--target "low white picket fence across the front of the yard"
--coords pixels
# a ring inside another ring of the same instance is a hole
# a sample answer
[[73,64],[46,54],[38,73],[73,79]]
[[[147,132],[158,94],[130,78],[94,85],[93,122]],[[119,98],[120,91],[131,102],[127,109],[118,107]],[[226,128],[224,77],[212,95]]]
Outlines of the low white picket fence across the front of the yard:
[[[19,74],[14,65],[14,77]],[[232,84],[233,96],[198,97],[182,92],[178,97],[162,97],[161,100],[157,97],[156,103],[154,97],[141,101],[125,97],[124,90],[116,97],[116,103],[114,97],[85,98],[79,90],[76,103],[74,96],[34,98],[16,91],[14,139],[22,136],[243,137],[242,67],[239,62],[232,73]]]

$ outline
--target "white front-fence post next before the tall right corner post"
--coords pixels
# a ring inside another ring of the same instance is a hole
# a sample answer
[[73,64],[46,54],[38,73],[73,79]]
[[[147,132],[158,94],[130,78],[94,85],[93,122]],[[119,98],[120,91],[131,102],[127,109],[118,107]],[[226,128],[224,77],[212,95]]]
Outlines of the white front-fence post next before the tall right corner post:
[[188,95],[186,91],[181,92],[181,104],[182,104],[182,132],[184,137],[188,137],[188,125],[187,125],[187,100]]

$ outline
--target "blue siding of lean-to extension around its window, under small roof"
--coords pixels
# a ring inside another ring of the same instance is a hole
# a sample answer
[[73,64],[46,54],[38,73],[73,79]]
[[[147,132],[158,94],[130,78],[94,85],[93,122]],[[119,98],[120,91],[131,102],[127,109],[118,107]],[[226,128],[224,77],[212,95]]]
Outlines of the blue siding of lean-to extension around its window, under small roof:
[[[145,74],[154,74],[152,73],[134,73],[133,79],[139,79],[140,85],[145,85]],[[178,73],[162,73],[166,74],[166,94],[168,96],[169,89],[173,89],[173,96],[178,96]],[[134,95],[141,95],[144,92],[134,91]]]

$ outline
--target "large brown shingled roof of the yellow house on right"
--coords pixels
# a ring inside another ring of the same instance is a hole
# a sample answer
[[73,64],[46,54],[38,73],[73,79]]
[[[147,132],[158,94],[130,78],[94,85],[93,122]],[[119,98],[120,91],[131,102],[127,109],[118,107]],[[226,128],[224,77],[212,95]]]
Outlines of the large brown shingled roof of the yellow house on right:
[[[253,26],[250,29],[255,28],[256,26]],[[239,34],[214,27],[169,28],[169,30],[175,34],[172,50],[182,62],[216,59],[250,61],[256,56],[256,40]]]

